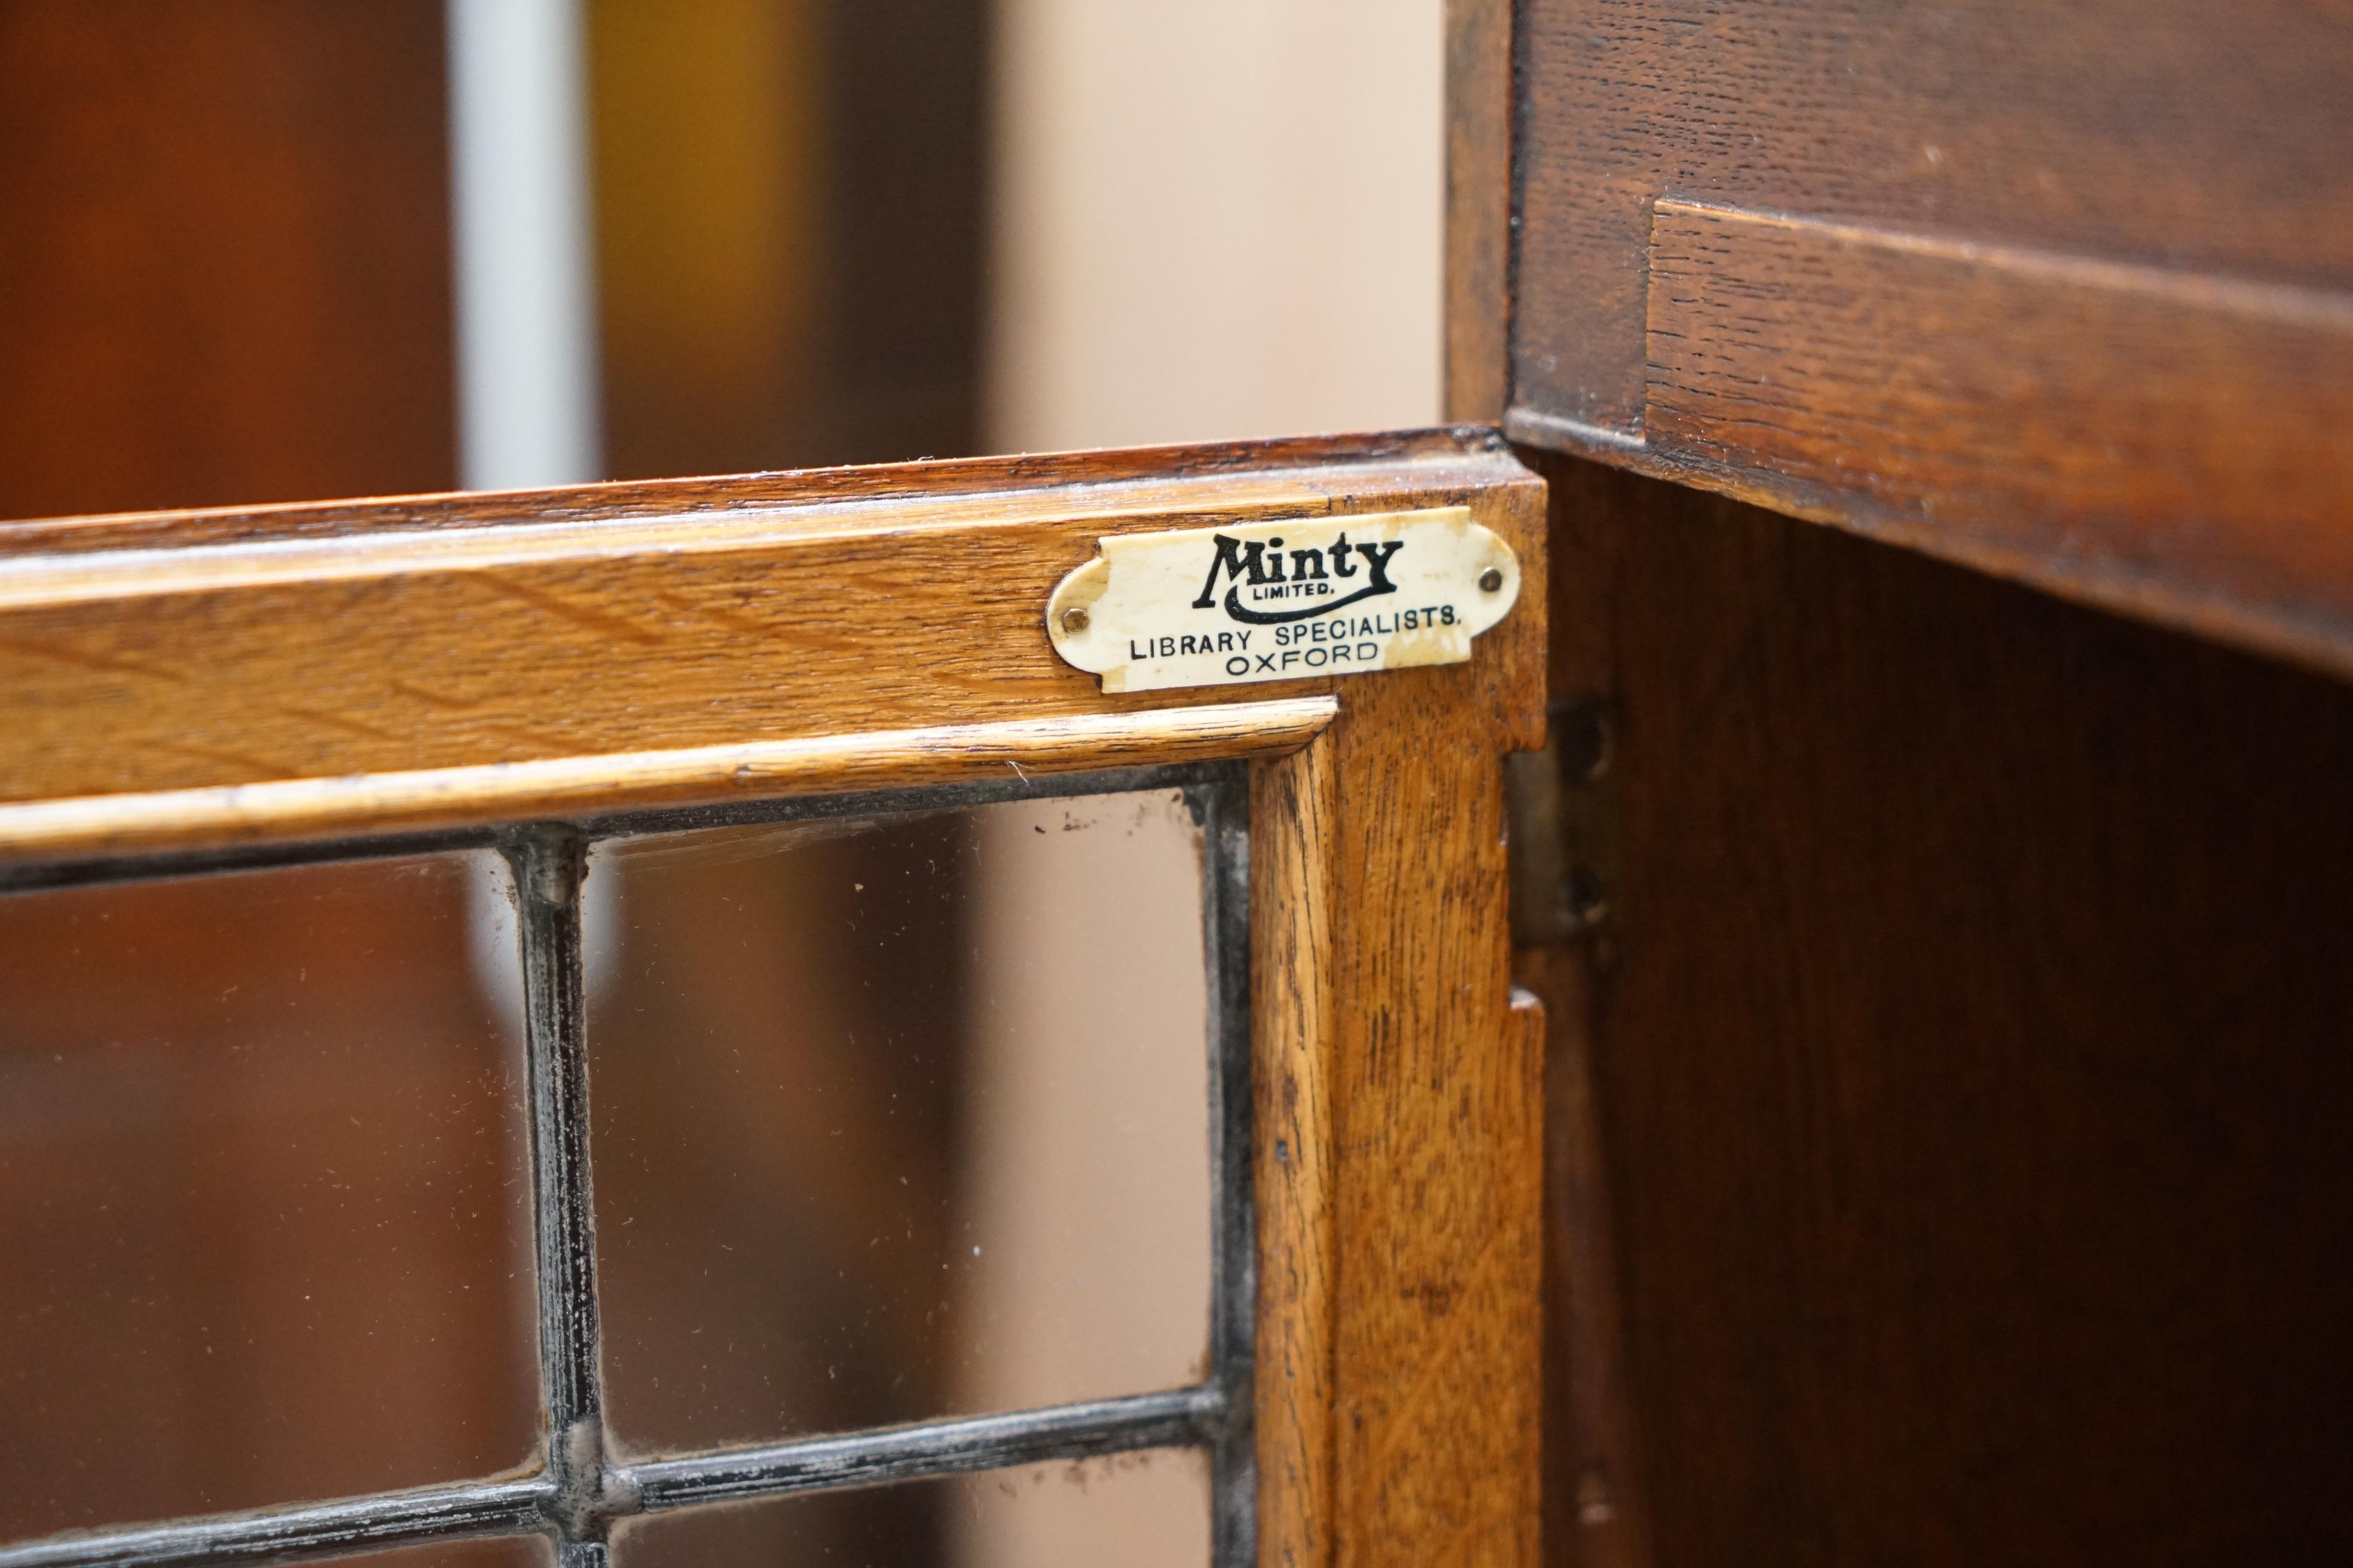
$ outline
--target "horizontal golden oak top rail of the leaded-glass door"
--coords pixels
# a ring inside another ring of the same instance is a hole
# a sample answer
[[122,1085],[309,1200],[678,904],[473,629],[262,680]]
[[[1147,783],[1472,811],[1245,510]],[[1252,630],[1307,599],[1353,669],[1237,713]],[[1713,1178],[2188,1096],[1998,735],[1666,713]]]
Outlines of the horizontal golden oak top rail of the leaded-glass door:
[[1428,433],[19,524],[0,799],[1217,701],[1106,698],[1052,654],[1047,592],[1096,536],[1492,512],[1518,475],[1487,433]]

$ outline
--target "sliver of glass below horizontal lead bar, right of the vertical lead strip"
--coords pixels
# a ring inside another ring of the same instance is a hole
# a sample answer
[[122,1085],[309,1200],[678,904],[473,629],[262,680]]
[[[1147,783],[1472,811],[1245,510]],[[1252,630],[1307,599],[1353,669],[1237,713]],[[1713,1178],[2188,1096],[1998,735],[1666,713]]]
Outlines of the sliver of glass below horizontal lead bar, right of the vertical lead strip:
[[1209,1462],[1120,1453],[979,1476],[654,1514],[614,1568],[1207,1568]]

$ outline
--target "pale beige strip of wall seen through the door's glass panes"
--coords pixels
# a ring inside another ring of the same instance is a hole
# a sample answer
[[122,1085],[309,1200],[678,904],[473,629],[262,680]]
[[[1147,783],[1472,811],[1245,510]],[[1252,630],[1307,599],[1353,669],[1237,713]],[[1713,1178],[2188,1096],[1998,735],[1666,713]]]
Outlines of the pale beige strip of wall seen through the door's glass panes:
[[[1207,983],[1200,863],[1181,804],[1033,802],[976,853],[965,1225],[974,1267],[960,1408],[1176,1387],[1209,1307]],[[1080,1316],[1082,1314],[1082,1316]],[[1191,1455],[1005,1479],[951,1516],[962,1568],[1207,1561]]]

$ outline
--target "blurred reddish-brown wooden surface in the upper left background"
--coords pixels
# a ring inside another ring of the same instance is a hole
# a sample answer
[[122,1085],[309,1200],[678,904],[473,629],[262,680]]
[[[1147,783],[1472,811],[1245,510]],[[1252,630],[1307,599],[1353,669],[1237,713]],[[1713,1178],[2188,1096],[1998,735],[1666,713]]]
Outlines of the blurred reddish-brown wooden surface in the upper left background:
[[456,484],[438,0],[0,7],[0,517]]

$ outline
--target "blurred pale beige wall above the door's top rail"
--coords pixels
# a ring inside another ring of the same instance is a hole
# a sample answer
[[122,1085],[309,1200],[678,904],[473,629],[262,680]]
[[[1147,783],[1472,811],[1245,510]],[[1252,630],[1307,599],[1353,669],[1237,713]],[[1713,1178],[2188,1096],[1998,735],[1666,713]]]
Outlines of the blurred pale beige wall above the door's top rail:
[[1002,0],[984,428],[1438,418],[1440,0]]

